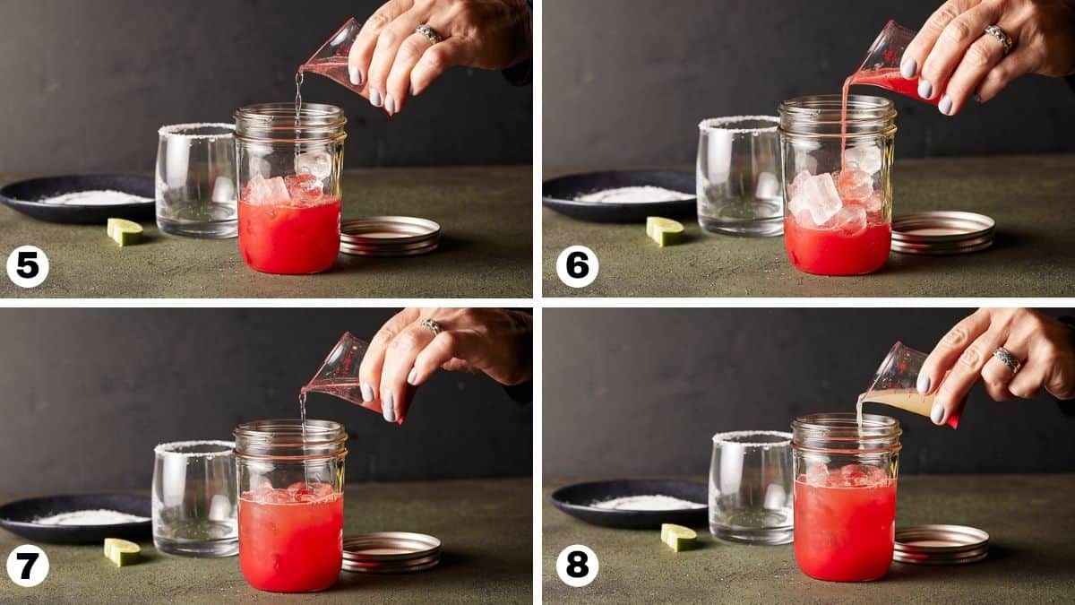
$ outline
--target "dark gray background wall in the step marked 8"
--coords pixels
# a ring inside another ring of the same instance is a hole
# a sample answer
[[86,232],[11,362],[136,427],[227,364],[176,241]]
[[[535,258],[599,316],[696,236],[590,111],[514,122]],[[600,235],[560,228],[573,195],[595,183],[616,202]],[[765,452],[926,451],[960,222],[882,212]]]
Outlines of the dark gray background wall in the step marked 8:
[[[543,473],[705,474],[715,433],[790,431],[799,416],[854,411],[892,343],[929,351],[969,313],[548,309]],[[902,473],[1075,470],[1075,418],[1048,395],[995,403],[975,386],[958,431],[887,406],[865,409],[903,425]]]

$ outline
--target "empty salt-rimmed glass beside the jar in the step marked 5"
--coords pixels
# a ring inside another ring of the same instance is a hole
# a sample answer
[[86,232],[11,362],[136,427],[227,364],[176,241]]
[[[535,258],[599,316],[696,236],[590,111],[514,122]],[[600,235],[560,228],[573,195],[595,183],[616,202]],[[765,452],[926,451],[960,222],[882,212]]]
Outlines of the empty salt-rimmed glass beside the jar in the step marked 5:
[[235,127],[177,124],[158,131],[157,227],[175,236],[239,234]]

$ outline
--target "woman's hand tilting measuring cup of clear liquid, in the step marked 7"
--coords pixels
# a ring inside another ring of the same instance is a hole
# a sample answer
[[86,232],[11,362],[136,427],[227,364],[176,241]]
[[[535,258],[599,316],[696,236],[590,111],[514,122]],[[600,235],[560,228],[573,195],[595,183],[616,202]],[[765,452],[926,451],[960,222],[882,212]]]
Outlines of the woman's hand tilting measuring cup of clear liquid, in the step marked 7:
[[[440,333],[424,320],[435,322]],[[362,358],[362,399],[379,404],[385,421],[402,423],[414,388],[438,368],[520,384],[532,374],[532,333],[533,318],[518,311],[404,309],[377,332]]]

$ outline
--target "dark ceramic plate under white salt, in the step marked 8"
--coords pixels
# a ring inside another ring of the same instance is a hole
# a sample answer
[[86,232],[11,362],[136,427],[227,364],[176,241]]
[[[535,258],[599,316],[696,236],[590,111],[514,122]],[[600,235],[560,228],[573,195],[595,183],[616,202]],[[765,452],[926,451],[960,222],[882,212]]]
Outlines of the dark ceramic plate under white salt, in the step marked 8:
[[[591,506],[615,497],[665,495],[697,502],[689,510],[607,510]],[[675,480],[620,479],[575,483],[553,492],[553,506],[593,525],[630,530],[659,529],[661,523],[697,527],[706,523],[708,488],[705,483]]]

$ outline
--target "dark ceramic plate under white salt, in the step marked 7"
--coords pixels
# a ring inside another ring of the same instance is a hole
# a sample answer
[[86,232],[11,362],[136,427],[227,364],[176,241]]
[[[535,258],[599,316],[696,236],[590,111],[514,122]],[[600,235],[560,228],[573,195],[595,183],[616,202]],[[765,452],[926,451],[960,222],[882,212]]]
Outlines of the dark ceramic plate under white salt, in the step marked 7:
[[85,494],[44,496],[10,502],[0,506],[0,527],[24,538],[47,544],[103,544],[104,538],[147,540],[152,521],[115,525],[39,525],[34,519],[75,510],[117,510],[148,518],[148,496],[130,494]]

